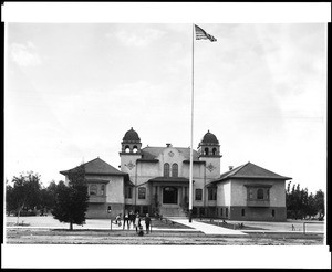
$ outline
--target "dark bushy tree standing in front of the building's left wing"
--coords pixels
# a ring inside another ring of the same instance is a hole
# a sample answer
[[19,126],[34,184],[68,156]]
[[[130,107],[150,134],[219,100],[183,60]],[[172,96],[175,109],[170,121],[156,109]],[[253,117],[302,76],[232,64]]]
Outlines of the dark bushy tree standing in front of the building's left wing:
[[60,182],[56,186],[55,206],[52,215],[60,222],[73,224],[85,222],[85,212],[89,206],[87,186],[84,165],[77,166],[69,172],[69,185]]

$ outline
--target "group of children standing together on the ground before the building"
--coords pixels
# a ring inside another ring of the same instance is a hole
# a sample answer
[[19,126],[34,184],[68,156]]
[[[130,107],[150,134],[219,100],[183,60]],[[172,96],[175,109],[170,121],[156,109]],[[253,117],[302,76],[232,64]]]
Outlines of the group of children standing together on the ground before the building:
[[[133,224],[134,228],[136,229],[136,232],[141,236],[143,234],[143,226],[141,223],[139,212],[137,212],[135,215],[133,211],[131,211],[129,213],[126,211],[123,217],[122,217],[122,213],[118,213],[115,218],[115,223],[118,227],[122,226],[122,222],[121,222],[122,219],[123,219],[123,229],[125,229],[126,224],[127,224],[127,229],[131,229],[131,226]],[[145,221],[146,233],[149,233],[151,217],[148,213],[146,213],[144,221]]]

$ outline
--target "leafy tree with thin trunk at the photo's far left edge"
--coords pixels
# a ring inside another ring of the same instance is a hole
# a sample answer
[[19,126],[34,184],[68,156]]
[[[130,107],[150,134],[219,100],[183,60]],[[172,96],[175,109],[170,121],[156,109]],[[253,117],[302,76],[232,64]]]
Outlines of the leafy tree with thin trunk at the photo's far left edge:
[[14,210],[18,215],[18,223],[20,213],[23,209],[35,209],[40,203],[40,175],[33,171],[22,172],[19,177],[13,177],[13,187],[6,187],[6,205],[8,212]]

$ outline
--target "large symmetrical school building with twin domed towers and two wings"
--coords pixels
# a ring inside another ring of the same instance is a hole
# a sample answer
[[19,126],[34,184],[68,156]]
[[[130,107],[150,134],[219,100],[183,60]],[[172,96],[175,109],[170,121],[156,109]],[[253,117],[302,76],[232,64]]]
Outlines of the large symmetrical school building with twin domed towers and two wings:
[[[142,148],[131,128],[121,143],[121,166],[100,158],[85,164],[90,192],[87,218],[107,218],[125,210],[163,217],[186,217],[189,202],[190,148]],[[251,163],[220,175],[220,145],[207,132],[193,150],[193,216],[229,220],[286,220],[286,180]],[[68,170],[69,171],[69,170]],[[61,171],[68,179],[68,171]]]

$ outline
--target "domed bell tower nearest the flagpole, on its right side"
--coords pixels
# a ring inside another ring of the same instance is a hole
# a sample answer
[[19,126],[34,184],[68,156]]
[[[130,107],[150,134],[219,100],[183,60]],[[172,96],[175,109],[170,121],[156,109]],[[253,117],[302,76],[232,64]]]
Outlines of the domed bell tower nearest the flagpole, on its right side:
[[220,176],[220,145],[215,134],[208,130],[198,145],[199,160],[206,161],[207,178]]

